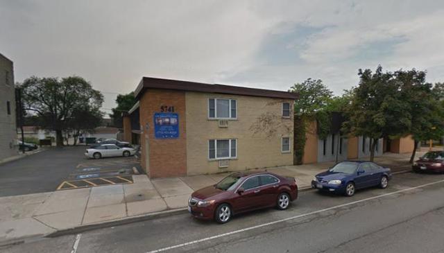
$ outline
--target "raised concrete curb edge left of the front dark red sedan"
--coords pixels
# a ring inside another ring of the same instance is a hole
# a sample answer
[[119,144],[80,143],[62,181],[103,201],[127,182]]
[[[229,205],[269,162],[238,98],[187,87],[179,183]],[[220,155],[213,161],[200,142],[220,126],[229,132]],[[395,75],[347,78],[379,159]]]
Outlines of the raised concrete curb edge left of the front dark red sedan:
[[60,229],[56,232],[53,232],[51,234],[46,234],[44,237],[58,237],[58,236],[65,236],[67,234],[77,234],[80,232],[87,232],[94,229],[101,229],[105,227],[115,227],[119,225],[126,225],[130,223],[137,223],[139,221],[144,220],[152,220],[154,218],[162,218],[167,216],[174,216],[182,213],[188,213],[187,208],[180,208],[180,209],[171,209],[167,211],[158,211],[155,213],[147,213],[141,216],[132,216],[128,218],[122,218],[120,220],[110,220],[103,223],[94,223],[94,224],[88,224],[88,225],[82,225],[78,227],[72,227],[69,229]]

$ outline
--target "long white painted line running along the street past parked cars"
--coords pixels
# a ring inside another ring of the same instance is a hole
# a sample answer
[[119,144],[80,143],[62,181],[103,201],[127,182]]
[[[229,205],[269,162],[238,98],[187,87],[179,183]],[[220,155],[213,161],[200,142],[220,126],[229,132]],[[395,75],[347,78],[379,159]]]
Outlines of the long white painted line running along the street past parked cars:
[[414,186],[414,187],[410,187],[410,188],[407,188],[407,189],[402,189],[400,191],[393,191],[391,193],[384,193],[382,195],[377,195],[377,196],[373,196],[373,197],[370,197],[370,198],[364,198],[362,200],[356,200],[356,201],[348,202],[348,203],[345,203],[345,204],[339,204],[339,205],[334,206],[334,207],[327,207],[325,209],[311,211],[311,212],[308,212],[308,213],[302,213],[300,215],[292,216],[292,217],[289,217],[289,218],[283,218],[283,219],[280,219],[280,220],[274,220],[274,221],[271,221],[269,223],[263,223],[263,224],[255,225],[253,227],[246,227],[244,229],[238,229],[238,230],[234,230],[232,232],[227,232],[227,233],[223,233],[223,234],[216,234],[215,236],[201,238],[201,239],[198,239],[196,241],[189,241],[187,243],[181,243],[181,244],[172,245],[172,246],[169,246],[169,247],[162,247],[160,249],[151,250],[151,251],[146,252],[146,253],[157,253],[157,252],[164,252],[164,251],[167,251],[167,250],[178,249],[178,248],[181,248],[181,247],[186,247],[188,245],[203,243],[205,241],[211,241],[211,240],[214,240],[216,238],[222,238],[222,237],[225,237],[225,236],[230,236],[232,234],[239,234],[241,232],[246,232],[246,231],[250,231],[250,230],[253,230],[253,229],[259,229],[261,227],[268,227],[268,226],[271,226],[271,225],[275,225],[277,223],[286,222],[288,220],[294,220],[294,219],[297,219],[297,218],[303,218],[303,217],[306,217],[306,216],[314,215],[316,213],[323,213],[325,211],[330,211],[330,210],[338,209],[338,208],[341,208],[341,207],[347,207],[347,206],[352,205],[352,204],[358,204],[358,203],[366,202],[366,201],[369,201],[369,200],[376,200],[376,199],[383,198],[383,197],[386,197],[386,196],[389,196],[389,195],[403,193],[405,191],[411,191],[411,190],[414,190],[414,189],[420,189],[420,188],[424,188],[425,186],[431,186],[431,185],[440,184],[440,183],[443,183],[443,182],[444,182],[444,180],[439,180],[439,181],[431,182],[431,183],[428,183],[428,184],[422,184],[422,185],[419,185],[419,186]]

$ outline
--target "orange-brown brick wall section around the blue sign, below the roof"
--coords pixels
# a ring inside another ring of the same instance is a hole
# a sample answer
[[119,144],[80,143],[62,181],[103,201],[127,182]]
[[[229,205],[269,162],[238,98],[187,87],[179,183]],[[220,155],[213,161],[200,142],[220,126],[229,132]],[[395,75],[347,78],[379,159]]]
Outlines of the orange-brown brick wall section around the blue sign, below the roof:
[[[173,106],[179,115],[178,139],[154,138],[154,113],[162,105]],[[148,89],[140,98],[141,164],[151,178],[187,175],[187,135],[185,91]],[[148,125],[148,130],[146,126]],[[149,168],[146,168],[146,139],[148,139]]]

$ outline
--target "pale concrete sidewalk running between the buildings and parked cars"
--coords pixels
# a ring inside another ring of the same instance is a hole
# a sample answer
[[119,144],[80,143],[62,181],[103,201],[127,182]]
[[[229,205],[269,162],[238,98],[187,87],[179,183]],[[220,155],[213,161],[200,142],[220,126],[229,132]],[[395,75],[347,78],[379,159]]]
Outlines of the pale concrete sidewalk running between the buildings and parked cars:
[[[408,157],[384,155],[377,157],[375,162],[391,167],[392,171],[402,171],[409,169]],[[314,175],[333,164],[281,166],[267,168],[267,171],[295,177],[299,189],[309,189]],[[193,191],[215,184],[228,174],[155,180],[150,180],[146,175],[133,175],[133,184],[0,198],[0,245],[65,229],[112,223],[168,210],[180,211],[187,207]]]

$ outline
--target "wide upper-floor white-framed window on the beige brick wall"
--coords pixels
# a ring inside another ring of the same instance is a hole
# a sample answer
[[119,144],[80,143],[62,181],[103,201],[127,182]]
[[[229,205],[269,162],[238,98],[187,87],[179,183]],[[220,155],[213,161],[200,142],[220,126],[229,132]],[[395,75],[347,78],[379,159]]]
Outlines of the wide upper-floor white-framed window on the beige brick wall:
[[234,99],[210,98],[208,100],[208,118],[236,119],[237,101]]

